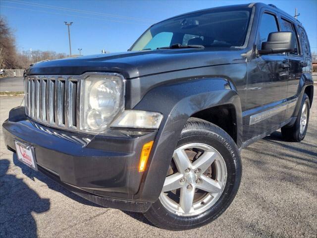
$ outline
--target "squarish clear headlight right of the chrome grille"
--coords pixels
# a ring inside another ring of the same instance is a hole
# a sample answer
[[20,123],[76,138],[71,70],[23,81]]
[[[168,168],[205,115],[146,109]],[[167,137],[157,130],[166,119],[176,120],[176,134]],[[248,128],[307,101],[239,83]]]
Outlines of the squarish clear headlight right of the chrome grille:
[[81,81],[80,129],[102,132],[124,107],[124,79],[92,75]]

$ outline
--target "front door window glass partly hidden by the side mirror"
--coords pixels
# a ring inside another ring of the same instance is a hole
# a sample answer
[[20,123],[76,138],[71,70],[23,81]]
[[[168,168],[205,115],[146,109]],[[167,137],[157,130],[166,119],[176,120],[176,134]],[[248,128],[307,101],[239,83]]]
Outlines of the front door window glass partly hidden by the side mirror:
[[277,32],[277,22],[276,17],[269,13],[264,13],[261,19],[261,25],[259,28],[259,40],[257,47],[260,50],[262,47],[262,42],[267,41],[268,34],[271,32]]

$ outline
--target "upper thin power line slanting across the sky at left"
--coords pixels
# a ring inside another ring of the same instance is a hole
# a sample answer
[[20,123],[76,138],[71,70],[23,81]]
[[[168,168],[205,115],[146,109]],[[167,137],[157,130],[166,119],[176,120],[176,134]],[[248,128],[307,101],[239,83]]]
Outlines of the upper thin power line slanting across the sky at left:
[[45,7],[45,8],[52,8],[52,9],[57,9],[57,10],[73,11],[73,12],[92,14],[92,15],[99,15],[99,16],[106,16],[106,17],[121,18],[121,19],[126,19],[126,20],[135,20],[135,21],[143,21],[143,22],[151,22],[151,23],[155,23],[156,22],[154,20],[144,19],[144,18],[139,18],[139,17],[120,16],[120,15],[115,15],[115,14],[87,11],[87,10],[81,10],[81,9],[75,9],[75,8],[66,8],[66,7],[46,5],[46,4],[40,4],[40,3],[28,2],[28,1],[21,1],[21,0],[12,0],[12,1],[6,1],[6,2],[15,3],[15,4],[24,4],[24,5],[30,5],[30,6]]

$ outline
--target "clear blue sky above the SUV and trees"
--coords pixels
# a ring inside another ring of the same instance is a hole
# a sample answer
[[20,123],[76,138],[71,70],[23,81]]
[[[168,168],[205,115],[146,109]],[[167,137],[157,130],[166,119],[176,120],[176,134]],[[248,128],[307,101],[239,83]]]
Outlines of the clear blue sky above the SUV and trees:
[[[252,0],[0,0],[0,15],[14,29],[22,50],[69,53],[67,27],[71,26],[72,54],[126,51],[153,23],[181,13]],[[317,52],[317,0],[263,0],[291,15],[295,7],[306,28],[312,51]],[[67,8],[67,9],[65,9]]]

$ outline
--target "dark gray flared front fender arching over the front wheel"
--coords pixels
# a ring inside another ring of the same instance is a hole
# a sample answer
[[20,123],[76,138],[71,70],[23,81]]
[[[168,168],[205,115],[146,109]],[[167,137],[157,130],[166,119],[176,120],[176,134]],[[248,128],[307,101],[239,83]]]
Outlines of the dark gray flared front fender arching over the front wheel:
[[162,189],[180,133],[191,115],[211,107],[231,104],[237,115],[237,144],[241,145],[242,112],[234,85],[223,78],[188,79],[150,90],[135,110],[163,114],[148,167],[135,199],[155,202]]

